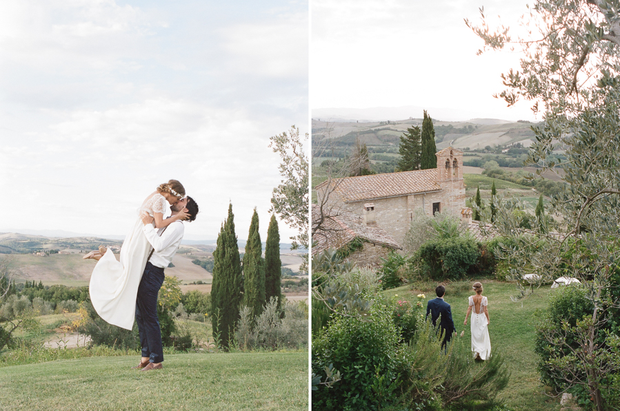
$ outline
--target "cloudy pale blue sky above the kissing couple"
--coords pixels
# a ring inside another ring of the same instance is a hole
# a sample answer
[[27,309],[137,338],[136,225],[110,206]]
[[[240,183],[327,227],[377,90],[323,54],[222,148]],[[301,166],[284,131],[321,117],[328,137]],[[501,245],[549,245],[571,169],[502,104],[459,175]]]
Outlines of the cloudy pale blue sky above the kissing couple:
[[0,232],[124,235],[174,178],[201,209],[186,238],[229,202],[266,238],[269,138],[308,132],[308,1],[4,0],[0,55]]

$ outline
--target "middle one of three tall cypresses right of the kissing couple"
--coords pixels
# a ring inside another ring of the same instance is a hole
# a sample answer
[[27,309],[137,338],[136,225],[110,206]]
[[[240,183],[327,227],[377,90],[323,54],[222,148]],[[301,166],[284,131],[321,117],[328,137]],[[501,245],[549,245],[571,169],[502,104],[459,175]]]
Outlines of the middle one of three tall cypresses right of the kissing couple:
[[250,233],[243,255],[243,278],[245,280],[245,300],[243,304],[250,307],[252,317],[261,315],[266,303],[265,299],[265,266],[261,254],[261,235],[259,234],[259,215],[254,209]]

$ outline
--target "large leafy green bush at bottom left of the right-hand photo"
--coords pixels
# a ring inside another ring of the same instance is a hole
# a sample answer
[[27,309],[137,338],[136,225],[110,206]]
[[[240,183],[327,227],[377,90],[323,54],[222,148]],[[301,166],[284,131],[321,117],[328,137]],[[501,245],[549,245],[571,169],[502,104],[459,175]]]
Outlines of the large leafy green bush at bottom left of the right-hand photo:
[[332,388],[312,392],[312,408],[373,410],[394,403],[399,359],[399,334],[389,307],[374,304],[370,321],[334,316],[312,341],[312,372],[323,380],[325,367],[333,364],[342,377]]

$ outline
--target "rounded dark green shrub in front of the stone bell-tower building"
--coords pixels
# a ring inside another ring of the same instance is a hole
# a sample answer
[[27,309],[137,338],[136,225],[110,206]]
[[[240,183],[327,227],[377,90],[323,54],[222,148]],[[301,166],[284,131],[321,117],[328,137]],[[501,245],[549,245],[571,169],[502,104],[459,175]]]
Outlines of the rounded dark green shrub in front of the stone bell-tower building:
[[459,237],[430,240],[422,244],[415,258],[423,275],[434,280],[461,280],[479,257],[476,240]]

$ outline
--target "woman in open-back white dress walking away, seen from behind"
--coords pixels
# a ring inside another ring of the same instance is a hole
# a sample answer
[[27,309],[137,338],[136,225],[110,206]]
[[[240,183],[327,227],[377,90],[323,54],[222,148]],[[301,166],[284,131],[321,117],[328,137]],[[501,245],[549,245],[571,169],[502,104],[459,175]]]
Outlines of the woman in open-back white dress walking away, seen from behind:
[[489,339],[490,324],[489,311],[488,311],[488,299],[482,296],[482,284],[475,282],[472,287],[476,291],[476,295],[469,297],[469,305],[467,308],[467,314],[465,315],[464,325],[467,325],[467,319],[472,313],[472,352],[474,353],[474,359],[486,360],[491,355],[491,340]]

